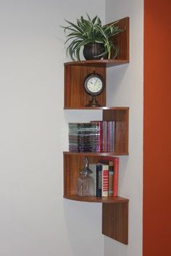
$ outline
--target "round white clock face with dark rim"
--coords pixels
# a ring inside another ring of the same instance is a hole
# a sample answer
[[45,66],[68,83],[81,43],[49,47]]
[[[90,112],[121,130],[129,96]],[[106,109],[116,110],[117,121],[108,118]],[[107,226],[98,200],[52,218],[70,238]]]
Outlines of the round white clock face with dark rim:
[[84,88],[88,94],[99,95],[104,89],[104,79],[99,74],[90,74],[84,81]]

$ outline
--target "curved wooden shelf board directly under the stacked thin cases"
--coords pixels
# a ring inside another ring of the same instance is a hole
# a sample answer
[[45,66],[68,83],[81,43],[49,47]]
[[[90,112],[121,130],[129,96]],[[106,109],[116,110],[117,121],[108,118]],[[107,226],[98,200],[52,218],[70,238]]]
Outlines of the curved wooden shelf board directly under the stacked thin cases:
[[64,151],[63,154],[68,155],[79,155],[79,156],[95,156],[95,157],[114,157],[114,156],[121,156],[121,155],[128,155],[128,153],[114,153],[114,152],[70,152],[70,151]]

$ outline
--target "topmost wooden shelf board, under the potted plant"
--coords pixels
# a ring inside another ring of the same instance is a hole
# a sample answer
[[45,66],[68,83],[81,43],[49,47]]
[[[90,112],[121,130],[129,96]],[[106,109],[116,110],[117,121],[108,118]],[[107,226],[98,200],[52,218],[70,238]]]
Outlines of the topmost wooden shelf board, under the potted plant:
[[72,66],[101,66],[101,67],[112,67],[118,65],[128,64],[129,60],[125,59],[91,59],[91,60],[81,60],[80,62],[65,62],[64,65]]

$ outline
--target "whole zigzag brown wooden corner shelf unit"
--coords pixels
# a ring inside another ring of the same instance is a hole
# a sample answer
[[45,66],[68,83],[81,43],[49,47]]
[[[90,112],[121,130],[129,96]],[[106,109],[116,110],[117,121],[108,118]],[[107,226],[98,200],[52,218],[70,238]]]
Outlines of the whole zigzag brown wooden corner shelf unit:
[[[106,106],[107,68],[129,63],[129,17],[118,20],[117,26],[125,28],[125,30],[112,38],[119,51],[116,59],[64,63],[64,110],[101,110],[102,120],[114,121],[115,125],[114,152],[63,152],[64,198],[102,203],[102,234],[123,244],[128,244],[128,199],[123,197],[78,197],[76,195],[76,180],[79,170],[83,167],[84,157],[88,157],[90,163],[97,163],[105,156],[128,155],[129,107]],[[102,107],[85,107],[91,100],[91,96],[84,90],[83,82],[86,76],[94,71],[104,78],[104,91],[96,96]]]

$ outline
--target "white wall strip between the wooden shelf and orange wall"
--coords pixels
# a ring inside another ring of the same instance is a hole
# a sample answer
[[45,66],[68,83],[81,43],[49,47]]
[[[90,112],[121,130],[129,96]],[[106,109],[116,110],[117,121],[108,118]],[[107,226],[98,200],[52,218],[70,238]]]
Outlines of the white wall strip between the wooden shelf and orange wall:
[[130,107],[129,156],[121,157],[122,197],[130,199],[129,244],[105,237],[105,256],[142,255],[143,0],[107,0],[106,22],[130,17],[130,64],[108,69],[108,104]]

